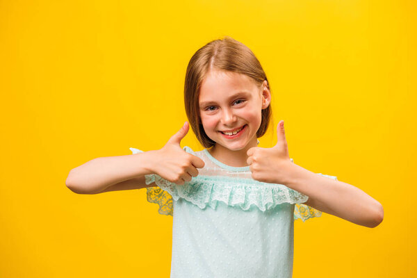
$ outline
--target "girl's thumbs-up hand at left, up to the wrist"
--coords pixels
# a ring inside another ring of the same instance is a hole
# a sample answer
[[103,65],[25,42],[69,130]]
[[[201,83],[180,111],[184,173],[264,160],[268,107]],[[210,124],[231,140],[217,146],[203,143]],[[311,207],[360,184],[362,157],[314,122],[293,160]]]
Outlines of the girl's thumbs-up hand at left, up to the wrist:
[[153,172],[163,179],[179,185],[190,181],[191,177],[197,177],[197,168],[204,167],[204,161],[201,158],[188,154],[179,145],[189,129],[190,126],[186,122],[162,149],[154,151]]

